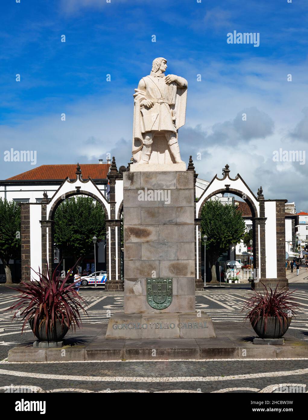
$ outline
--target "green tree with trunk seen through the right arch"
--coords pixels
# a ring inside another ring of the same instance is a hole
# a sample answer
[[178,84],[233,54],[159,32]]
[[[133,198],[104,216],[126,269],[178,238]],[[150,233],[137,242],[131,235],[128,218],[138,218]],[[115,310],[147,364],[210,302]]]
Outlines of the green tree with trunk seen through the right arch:
[[206,260],[211,267],[211,283],[217,283],[218,257],[226,252],[231,244],[238,244],[244,231],[245,222],[242,214],[232,204],[222,204],[218,200],[205,202],[201,212],[201,238],[204,234],[207,235]]

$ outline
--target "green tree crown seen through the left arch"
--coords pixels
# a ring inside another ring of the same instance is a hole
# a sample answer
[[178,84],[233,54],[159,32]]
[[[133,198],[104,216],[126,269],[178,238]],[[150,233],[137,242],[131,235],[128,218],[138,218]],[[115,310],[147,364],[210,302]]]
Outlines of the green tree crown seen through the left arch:
[[54,213],[54,244],[63,257],[83,258],[93,251],[93,236],[102,239],[105,234],[104,209],[91,197],[67,199]]

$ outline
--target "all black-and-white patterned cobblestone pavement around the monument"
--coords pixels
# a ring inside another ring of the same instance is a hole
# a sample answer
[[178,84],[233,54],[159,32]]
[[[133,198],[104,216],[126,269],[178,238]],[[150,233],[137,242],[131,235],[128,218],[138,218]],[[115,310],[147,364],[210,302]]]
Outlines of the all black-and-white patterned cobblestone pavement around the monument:
[[[297,284],[294,297],[302,312],[292,320],[292,334],[308,339],[308,291]],[[83,289],[89,317],[84,323],[107,323],[114,312],[123,310],[123,294]],[[214,323],[241,322],[241,309],[251,291],[247,288],[206,289],[196,296],[196,309],[205,310]],[[8,386],[37,387],[38,392],[272,392],[277,386],[298,386],[308,391],[308,359],[192,360],[192,361],[102,361],[8,363],[8,350],[33,339],[30,328],[21,336],[21,321],[12,322],[5,312],[16,292],[0,289],[0,392]],[[214,324],[215,325],[215,324]]]

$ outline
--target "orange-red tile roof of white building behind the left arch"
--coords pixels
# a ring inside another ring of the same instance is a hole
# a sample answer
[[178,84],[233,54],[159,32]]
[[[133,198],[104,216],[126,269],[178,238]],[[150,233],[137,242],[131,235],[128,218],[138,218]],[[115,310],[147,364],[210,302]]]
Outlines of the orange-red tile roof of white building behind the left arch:
[[[7,178],[9,180],[41,180],[41,179],[75,179],[76,164],[72,165],[41,165],[37,168]],[[80,164],[83,179],[106,179],[109,171],[109,163],[86,163]]]

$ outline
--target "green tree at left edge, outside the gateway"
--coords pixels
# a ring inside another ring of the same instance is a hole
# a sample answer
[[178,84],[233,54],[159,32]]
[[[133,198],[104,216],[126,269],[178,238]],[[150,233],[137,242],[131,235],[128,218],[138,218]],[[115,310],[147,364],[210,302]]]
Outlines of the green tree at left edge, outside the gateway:
[[9,261],[21,256],[21,208],[15,201],[0,198],[0,258],[6,283],[12,284]]

